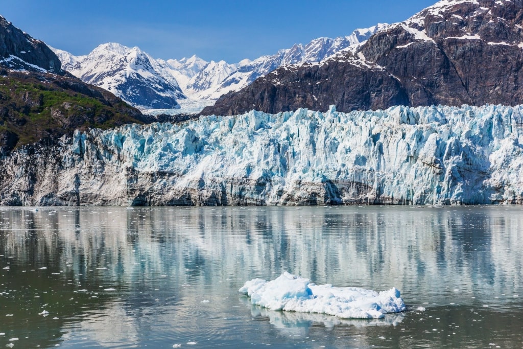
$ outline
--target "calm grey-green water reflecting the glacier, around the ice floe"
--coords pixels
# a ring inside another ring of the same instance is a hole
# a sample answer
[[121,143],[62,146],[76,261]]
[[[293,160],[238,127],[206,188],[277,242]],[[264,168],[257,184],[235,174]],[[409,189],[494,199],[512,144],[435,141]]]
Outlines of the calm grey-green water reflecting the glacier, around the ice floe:
[[[520,348],[522,264],[523,207],[2,209],[0,347]],[[284,271],[395,286],[409,310],[340,320],[238,294]]]

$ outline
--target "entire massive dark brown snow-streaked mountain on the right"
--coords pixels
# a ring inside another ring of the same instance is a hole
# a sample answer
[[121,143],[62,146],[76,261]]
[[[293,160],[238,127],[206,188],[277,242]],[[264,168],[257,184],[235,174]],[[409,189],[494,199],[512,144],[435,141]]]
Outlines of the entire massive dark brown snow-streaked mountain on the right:
[[523,103],[523,2],[444,0],[319,64],[280,67],[203,115]]

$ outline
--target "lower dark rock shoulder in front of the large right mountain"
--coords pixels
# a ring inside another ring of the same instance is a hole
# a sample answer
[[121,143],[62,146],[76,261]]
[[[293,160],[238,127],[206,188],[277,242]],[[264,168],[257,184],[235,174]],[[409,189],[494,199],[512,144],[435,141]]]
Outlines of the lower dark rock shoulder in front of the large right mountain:
[[[347,60],[353,63],[347,64]],[[275,114],[301,107],[325,111],[331,104],[342,110],[382,109],[390,103],[408,103],[391,74],[358,63],[349,52],[322,65],[280,67],[247,88],[223,96],[202,114],[234,115],[251,109]]]

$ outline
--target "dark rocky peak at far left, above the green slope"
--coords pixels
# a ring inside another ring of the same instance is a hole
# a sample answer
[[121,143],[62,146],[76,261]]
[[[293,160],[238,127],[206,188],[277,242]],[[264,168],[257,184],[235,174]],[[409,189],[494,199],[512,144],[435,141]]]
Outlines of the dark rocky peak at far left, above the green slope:
[[[64,74],[62,63],[53,51],[40,40],[14,27],[0,16],[0,65],[7,69],[41,71]],[[35,67],[35,65],[37,67]]]

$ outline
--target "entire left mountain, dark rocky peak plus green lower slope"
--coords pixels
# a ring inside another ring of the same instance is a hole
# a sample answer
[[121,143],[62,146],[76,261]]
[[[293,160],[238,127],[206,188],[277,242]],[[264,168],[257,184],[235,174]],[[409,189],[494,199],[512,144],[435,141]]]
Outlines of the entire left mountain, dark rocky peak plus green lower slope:
[[107,129],[144,116],[102,88],[61,69],[42,41],[0,16],[0,154],[90,127]]

